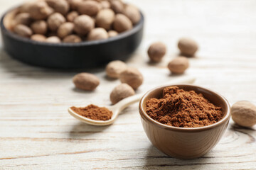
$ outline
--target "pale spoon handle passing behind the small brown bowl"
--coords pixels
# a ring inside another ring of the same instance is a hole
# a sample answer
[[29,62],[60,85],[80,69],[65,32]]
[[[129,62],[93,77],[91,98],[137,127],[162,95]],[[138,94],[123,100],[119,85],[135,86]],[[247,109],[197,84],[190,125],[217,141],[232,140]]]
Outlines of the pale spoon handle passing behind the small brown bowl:
[[[173,79],[166,83],[166,85],[171,84],[193,84],[193,82],[196,80],[194,77],[181,77],[177,79]],[[124,108],[127,108],[128,106],[132,105],[133,103],[136,103],[139,101],[144,94],[137,94],[134,96],[130,96],[128,98],[124,98],[122,101],[119,101],[117,104],[114,105],[114,108],[119,108],[119,113],[124,110]]]

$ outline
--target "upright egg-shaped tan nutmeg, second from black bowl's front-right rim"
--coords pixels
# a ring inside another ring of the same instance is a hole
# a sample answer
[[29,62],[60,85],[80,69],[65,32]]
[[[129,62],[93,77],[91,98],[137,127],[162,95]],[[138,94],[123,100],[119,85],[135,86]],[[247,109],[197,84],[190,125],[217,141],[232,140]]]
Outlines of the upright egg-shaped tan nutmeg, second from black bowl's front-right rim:
[[114,21],[114,11],[110,8],[102,9],[96,16],[96,25],[98,27],[104,28],[105,30],[110,30],[112,23]]

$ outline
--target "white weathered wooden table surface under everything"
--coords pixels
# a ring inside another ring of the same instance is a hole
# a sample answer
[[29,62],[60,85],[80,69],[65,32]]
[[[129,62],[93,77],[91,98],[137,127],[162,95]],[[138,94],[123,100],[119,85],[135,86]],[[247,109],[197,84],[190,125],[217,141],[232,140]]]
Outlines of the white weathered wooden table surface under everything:
[[[21,2],[0,0],[0,12]],[[166,63],[178,55],[183,36],[200,45],[186,75],[220,92],[230,103],[256,103],[256,1],[132,0],[146,15],[144,40],[127,62],[144,74],[137,93],[175,79]],[[146,49],[161,40],[168,46],[163,62],[148,63]],[[35,56],[36,57],[36,56]],[[167,157],[147,139],[138,104],[107,127],[80,123],[67,108],[89,103],[110,105],[109,81],[91,70],[101,84],[94,92],[74,89],[78,71],[31,67],[0,52],[0,169],[256,169],[256,128],[230,121],[218,145],[199,159]]]

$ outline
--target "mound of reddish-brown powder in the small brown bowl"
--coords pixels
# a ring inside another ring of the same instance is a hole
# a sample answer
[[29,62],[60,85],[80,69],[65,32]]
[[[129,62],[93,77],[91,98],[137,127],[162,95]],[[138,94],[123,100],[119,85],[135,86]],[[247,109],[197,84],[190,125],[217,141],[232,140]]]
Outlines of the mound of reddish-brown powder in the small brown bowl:
[[146,113],[159,123],[179,128],[196,128],[217,123],[223,118],[221,107],[210,103],[203,94],[166,87],[163,98],[146,101]]

